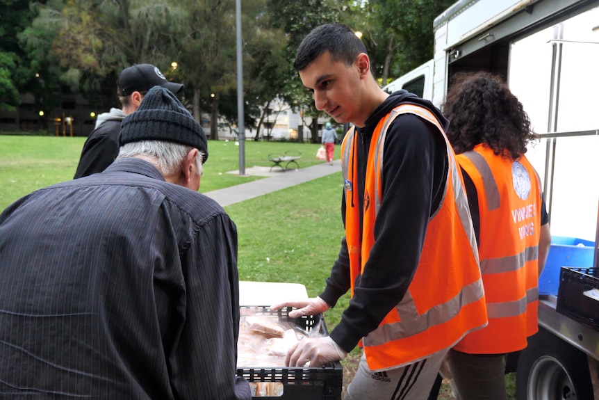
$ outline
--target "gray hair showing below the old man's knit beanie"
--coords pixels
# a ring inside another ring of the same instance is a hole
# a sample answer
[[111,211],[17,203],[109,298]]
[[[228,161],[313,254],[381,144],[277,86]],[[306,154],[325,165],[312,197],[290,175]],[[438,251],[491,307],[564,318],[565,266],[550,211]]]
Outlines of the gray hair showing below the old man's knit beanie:
[[[129,157],[146,156],[153,159],[154,165],[163,175],[173,175],[181,168],[183,160],[194,147],[180,145],[179,143],[165,141],[138,141],[125,143],[121,146],[117,159]],[[199,151],[199,150],[198,150]],[[197,170],[202,174],[202,160],[204,152],[199,151],[199,157],[195,162]]]

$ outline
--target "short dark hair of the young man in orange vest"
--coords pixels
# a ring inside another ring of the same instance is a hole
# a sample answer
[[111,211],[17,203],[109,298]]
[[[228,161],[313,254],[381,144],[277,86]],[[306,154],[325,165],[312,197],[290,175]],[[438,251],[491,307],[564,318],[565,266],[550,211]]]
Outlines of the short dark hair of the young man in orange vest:
[[366,47],[354,31],[343,24],[320,25],[302,40],[293,67],[301,71],[325,51],[329,51],[333,61],[352,65],[358,54],[366,54]]

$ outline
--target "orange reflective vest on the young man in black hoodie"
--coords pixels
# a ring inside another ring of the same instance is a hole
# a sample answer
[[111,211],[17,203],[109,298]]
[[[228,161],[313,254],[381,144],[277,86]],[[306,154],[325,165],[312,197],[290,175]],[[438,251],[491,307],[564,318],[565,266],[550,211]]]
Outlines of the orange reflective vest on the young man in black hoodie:
[[418,115],[438,128],[447,147],[449,171],[443,201],[429,219],[418,268],[404,298],[378,328],[362,340],[368,367],[373,371],[401,367],[427,358],[486,325],[476,239],[461,173],[457,170],[454,153],[443,128],[422,106],[401,104],[382,118],[375,129],[368,152],[364,193],[365,199],[366,196],[370,198],[370,206],[363,210],[362,230],[359,207],[352,207],[352,198],[354,204],[359,204],[358,193],[352,191],[355,183],[349,180],[357,175],[353,128],[343,140],[341,165],[346,183],[345,236],[350,254],[352,294],[356,276],[363,272],[375,242],[375,220],[383,198],[381,173],[387,129],[402,113]]

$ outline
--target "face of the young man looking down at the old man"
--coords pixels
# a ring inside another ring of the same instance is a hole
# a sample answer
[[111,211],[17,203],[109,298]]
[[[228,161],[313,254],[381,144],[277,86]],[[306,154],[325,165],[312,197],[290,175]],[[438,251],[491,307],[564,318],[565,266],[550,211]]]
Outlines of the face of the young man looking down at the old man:
[[363,74],[357,61],[347,66],[343,61],[333,61],[326,51],[300,71],[300,78],[312,92],[316,109],[325,111],[336,122],[362,126],[368,118],[362,115]]

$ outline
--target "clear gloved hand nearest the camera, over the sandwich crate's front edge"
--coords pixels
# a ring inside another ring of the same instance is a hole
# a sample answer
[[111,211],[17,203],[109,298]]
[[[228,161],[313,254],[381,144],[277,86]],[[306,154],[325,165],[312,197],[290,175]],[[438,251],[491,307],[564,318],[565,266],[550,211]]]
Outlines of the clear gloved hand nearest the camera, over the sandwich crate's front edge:
[[313,337],[300,340],[287,352],[287,367],[304,367],[310,362],[311,367],[320,367],[329,361],[343,360],[347,352],[341,349],[330,336]]

